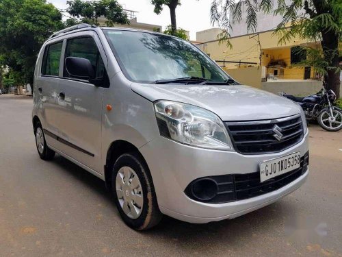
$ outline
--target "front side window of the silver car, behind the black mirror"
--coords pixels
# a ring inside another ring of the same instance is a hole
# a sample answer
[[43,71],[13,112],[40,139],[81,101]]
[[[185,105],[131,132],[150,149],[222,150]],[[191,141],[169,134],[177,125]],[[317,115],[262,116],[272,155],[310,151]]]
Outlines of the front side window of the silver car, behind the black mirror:
[[[86,58],[90,60],[94,68],[94,71],[96,71],[96,78],[103,77],[105,73],[105,65],[103,64],[100,52],[98,51],[98,48],[93,38],[85,37],[69,39],[66,44],[65,58],[69,56]],[[66,71],[65,66],[64,77],[73,77],[72,75],[70,75],[70,73],[68,73],[68,71]]]

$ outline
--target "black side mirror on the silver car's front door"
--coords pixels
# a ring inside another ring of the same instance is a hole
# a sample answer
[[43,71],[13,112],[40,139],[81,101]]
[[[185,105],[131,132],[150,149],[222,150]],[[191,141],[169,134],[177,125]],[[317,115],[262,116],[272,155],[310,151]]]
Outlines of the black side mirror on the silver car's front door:
[[80,77],[92,80],[95,78],[95,71],[90,60],[79,57],[67,57],[65,59],[66,71],[73,77]]

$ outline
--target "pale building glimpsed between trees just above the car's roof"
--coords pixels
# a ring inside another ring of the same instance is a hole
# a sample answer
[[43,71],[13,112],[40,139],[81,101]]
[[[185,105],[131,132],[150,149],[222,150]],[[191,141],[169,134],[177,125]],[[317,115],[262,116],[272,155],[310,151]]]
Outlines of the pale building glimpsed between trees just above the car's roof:
[[[136,14],[138,12],[135,12],[133,10],[124,10],[124,12],[127,13],[127,17],[129,19],[129,24],[116,24],[115,27],[129,27],[133,29],[142,29],[142,30],[148,30],[151,32],[161,32],[161,26],[160,25],[154,25],[154,24],[148,24],[148,23],[139,23],[137,21]],[[98,23],[100,26],[106,25],[106,19],[105,17],[98,17]]]

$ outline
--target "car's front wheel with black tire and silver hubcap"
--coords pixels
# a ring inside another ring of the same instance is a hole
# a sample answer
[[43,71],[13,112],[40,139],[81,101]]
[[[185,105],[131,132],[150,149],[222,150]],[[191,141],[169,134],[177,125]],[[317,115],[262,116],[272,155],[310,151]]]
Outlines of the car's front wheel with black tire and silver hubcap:
[[120,216],[130,228],[148,230],[161,221],[150,171],[137,153],[122,154],[116,160],[111,191]]

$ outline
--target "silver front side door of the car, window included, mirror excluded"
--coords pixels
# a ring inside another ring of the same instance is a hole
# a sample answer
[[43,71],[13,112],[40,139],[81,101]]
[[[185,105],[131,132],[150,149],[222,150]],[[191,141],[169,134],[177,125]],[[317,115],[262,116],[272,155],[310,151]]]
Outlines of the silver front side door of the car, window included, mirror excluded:
[[[69,56],[90,60],[98,79],[106,74],[107,59],[94,32],[67,38],[64,64]],[[103,173],[101,121],[104,89],[86,79],[73,77],[64,66],[57,90],[57,105],[60,107],[56,118],[59,124],[58,149],[98,173]]]

